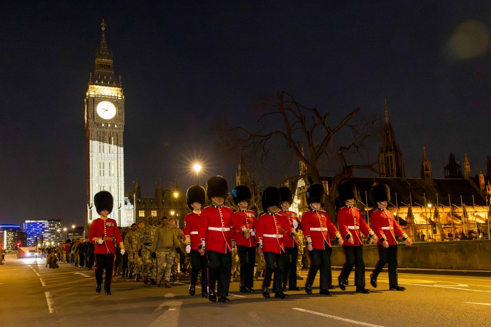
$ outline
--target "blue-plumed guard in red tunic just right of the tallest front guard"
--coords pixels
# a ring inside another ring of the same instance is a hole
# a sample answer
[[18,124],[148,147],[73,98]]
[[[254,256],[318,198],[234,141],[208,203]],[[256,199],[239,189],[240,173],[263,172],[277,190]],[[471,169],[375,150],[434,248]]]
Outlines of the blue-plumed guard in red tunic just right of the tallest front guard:
[[234,204],[239,210],[232,217],[240,261],[240,292],[254,293],[254,265],[256,264],[256,214],[248,210],[251,190],[238,185],[232,190]]

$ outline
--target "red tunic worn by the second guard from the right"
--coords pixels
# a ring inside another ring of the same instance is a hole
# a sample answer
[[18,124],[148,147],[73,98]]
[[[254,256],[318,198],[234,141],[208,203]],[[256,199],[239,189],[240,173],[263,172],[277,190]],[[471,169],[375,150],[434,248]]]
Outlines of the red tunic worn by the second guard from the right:
[[[342,207],[338,211],[338,227],[341,236],[343,237],[343,245],[360,246],[363,245],[362,235],[368,237],[373,231],[370,230],[362,213],[358,208]],[[361,233],[360,233],[361,232]],[[346,238],[349,234],[353,238],[353,244],[348,242]]]

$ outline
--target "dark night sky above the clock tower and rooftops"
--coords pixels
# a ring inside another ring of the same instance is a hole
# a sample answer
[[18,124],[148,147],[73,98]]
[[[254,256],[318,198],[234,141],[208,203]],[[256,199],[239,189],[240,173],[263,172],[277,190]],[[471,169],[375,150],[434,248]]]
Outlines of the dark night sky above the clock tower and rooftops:
[[[184,190],[196,158],[202,181],[221,174],[233,187],[238,150],[215,152],[214,126],[254,128],[255,104],[280,90],[333,122],[361,107],[380,127],[387,99],[407,177],[422,147],[436,178],[450,152],[486,171],[491,2],[231,3],[2,2],[0,223],[83,223],[83,100],[102,18],[126,97],[125,188],[138,178],[153,195],[178,175]],[[374,162],[379,145],[358,160]],[[297,167],[251,162],[262,183]]]

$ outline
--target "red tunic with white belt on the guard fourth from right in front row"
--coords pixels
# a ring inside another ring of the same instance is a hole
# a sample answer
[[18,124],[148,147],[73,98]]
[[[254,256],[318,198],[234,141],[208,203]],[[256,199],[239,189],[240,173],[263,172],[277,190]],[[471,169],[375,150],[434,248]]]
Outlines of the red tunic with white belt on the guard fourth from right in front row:
[[283,216],[276,214],[263,214],[256,223],[256,237],[259,244],[262,243],[263,252],[275,252],[280,254],[280,249],[285,252],[283,245],[283,231],[290,230]]

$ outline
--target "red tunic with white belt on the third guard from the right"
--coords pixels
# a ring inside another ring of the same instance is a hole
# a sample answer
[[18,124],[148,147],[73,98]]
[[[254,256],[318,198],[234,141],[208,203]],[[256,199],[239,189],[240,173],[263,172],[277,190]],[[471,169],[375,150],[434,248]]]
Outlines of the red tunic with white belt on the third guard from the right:
[[307,210],[304,212],[302,215],[302,230],[307,245],[311,242],[314,249],[325,249],[325,242],[331,246],[327,231],[329,231],[333,239],[341,237],[338,229],[331,222],[329,215],[323,210]]

